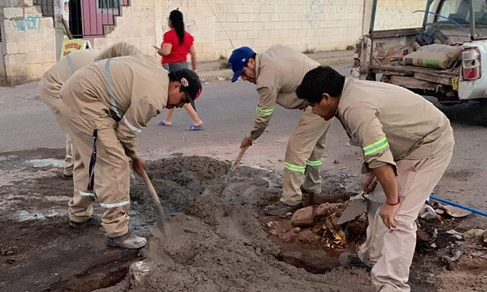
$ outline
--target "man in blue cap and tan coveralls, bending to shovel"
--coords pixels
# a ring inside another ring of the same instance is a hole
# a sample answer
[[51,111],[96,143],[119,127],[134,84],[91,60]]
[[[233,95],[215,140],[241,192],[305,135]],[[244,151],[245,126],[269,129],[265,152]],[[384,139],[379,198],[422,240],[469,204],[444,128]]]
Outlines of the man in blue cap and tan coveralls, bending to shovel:
[[296,88],[309,70],[319,63],[289,47],[276,44],[263,54],[255,54],[249,47],[241,47],[229,58],[234,76],[255,83],[259,93],[257,114],[250,133],[244,137],[241,148],[252,145],[269,125],[276,104],[303,111],[298,126],[287,143],[284,181],[280,201],[266,206],[268,215],[284,215],[296,211],[305,193],[321,193],[319,175],[324,143],[330,122],[313,115],[308,102],[296,97]]

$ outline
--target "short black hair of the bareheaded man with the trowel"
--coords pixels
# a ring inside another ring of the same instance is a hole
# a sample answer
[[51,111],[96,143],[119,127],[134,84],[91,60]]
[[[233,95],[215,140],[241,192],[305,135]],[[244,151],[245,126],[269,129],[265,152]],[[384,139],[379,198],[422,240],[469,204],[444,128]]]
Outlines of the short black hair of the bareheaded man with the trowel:
[[345,76],[332,67],[319,66],[305,74],[301,85],[296,89],[296,95],[311,104],[319,104],[324,93],[330,97],[340,97],[344,84]]

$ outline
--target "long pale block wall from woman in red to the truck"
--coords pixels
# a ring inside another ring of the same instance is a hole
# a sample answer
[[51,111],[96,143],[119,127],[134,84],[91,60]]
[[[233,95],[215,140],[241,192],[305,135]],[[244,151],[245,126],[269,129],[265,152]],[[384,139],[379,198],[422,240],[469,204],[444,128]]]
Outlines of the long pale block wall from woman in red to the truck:
[[[364,15],[372,0],[159,0],[156,6],[158,45],[170,11],[179,8],[198,60],[215,60],[230,56],[232,43],[257,52],[277,43],[297,51],[346,49],[368,31]],[[376,29],[420,26],[423,14],[413,11],[425,6],[426,0],[379,0]]]

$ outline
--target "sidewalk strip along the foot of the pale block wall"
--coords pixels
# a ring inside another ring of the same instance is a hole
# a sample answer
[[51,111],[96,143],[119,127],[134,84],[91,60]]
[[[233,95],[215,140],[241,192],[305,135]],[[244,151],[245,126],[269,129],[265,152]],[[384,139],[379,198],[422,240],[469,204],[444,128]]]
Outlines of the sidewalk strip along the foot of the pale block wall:
[[[307,56],[316,60],[321,65],[335,65],[339,63],[343,63],[344,65],[353,64],[353,50],[320,51],[307,54]],[[227,67],[226,62],[227,60],[198,62],[198,75],[202,81],[206,82],[230,79],[232,70]]]

